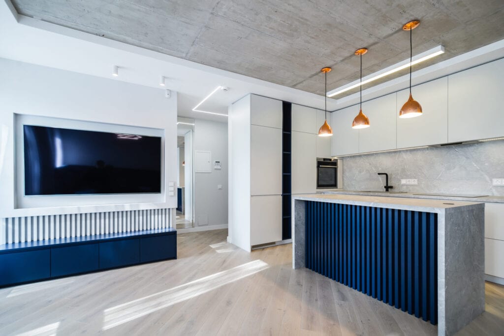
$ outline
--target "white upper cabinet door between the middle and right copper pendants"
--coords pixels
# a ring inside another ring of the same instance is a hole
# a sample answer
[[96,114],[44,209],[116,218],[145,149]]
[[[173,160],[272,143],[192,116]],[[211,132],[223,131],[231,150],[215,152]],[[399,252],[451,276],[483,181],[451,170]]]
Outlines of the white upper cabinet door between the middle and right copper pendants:
[[[358,106],[355,107],[355,115],[357,113]],[[370,127],[359,129],[359,153],[395,149],[396,115],[399,114],[396,94],[362,103],[362,113],[369,118]]]

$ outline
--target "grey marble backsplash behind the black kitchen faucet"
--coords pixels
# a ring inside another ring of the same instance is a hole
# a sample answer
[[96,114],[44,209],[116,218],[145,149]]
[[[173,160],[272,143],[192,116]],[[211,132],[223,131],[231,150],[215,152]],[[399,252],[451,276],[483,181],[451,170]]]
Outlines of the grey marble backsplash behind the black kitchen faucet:
[[376,173],[389,174],[392,191],[504,196],[504,186],[492,187],[492,178],[504,179],[504,140],[343,157],[346,190],[385,190]]

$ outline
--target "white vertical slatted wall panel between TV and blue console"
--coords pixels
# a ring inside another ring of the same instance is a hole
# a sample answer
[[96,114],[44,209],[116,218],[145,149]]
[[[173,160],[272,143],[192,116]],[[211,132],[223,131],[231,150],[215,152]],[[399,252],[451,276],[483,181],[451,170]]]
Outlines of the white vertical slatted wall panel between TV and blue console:
[[172,209],[0,219],[0,244],[173,227]]

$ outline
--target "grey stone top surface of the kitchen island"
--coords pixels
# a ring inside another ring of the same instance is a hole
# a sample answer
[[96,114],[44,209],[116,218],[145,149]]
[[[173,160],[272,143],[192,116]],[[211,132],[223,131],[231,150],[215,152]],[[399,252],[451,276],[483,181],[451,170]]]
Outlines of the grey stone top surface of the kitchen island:
[[[295,200],[341,203],[363,205],[370,207],[414,210],[424,212],[455,212],[473,207],[483,206],[480,202],[446,201],[435,199],[399,198],[373,195],[348,195],[348,194],[306,194],[293,195]],[[464,209],[462,209],[464,208]]]

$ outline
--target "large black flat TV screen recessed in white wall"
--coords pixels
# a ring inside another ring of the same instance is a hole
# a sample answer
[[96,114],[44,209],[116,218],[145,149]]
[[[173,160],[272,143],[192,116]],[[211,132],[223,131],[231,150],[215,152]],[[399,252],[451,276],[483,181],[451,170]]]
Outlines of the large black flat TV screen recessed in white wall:
[[161,138],[23,125],[25,195],[161,192]]

